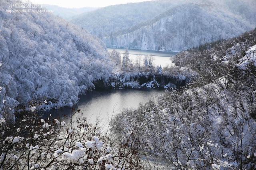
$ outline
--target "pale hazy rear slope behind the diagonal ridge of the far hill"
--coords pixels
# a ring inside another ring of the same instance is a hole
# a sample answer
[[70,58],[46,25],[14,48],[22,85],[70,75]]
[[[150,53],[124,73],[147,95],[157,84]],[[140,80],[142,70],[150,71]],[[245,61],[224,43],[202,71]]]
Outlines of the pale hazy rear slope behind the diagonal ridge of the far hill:
[[128,29],[141,21],[148,20],[181,4],[185,0],[161,0],[139,3],[120,4],[100,8],[93,12],[81,14],[72,18],[76,25],[87,29],[93,35],[103,37],[123,29]]

